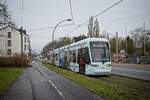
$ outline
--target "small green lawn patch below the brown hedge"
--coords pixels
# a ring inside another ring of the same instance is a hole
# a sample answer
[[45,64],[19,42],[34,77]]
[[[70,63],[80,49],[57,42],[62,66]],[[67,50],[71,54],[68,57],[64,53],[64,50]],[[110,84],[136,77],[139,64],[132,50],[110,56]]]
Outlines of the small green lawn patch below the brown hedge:
[[0,67],[0,94],[23,72],[23,68]]

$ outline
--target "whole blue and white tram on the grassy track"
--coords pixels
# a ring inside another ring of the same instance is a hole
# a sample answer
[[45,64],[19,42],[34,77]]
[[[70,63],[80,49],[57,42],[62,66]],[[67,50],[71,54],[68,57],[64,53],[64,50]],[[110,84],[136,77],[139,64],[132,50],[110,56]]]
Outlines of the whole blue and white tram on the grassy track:
[[110,44],[104,38],[86,38],[53,50],[53,55],[55,65],[75,72],[85,75],[111,73]]

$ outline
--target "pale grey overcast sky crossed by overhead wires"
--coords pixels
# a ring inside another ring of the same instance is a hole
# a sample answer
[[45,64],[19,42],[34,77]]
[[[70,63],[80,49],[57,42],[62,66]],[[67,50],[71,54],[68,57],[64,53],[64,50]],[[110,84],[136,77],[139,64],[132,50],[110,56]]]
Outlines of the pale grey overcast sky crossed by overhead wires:
[[[31,36],[33,50],[40,51],[51,41],[52,30],[59,21],[71,18],[69,0],[24,0],[23,24],[21,24],[22,1],[7,0],[13,21],[18,27],[21,25]],[[75,25],[59,27],[55,31],[55,38],[63,36],[78,36],[87,34],[87,26],[82,26],[73,33],[67,34],[78,24],[88,20],[119,0],[71,0]],[[109,11],[97,17],[100,31],[106,30],[113,36],[125,36],[127,30],[142,27],[150,29],[150,0],[124,0]],[[62,24],[72,24],[64,22]]]

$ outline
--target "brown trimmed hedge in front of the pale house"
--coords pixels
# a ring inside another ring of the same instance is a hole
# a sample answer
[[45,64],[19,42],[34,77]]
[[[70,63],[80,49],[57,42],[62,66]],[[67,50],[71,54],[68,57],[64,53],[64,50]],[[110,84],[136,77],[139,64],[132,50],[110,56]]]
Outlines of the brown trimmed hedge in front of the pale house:
[[0,67],[28,67],[30,60],[25,54],[14,56],[0,56]]

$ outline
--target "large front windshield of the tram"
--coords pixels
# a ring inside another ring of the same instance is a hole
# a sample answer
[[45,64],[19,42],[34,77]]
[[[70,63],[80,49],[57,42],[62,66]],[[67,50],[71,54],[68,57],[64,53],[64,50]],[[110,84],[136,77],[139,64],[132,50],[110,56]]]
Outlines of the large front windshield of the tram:
[[107,42],[90,42],[91,56],[93,62],[109,62],[109,44]]

